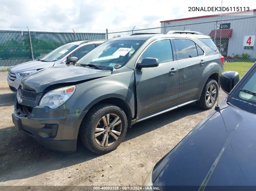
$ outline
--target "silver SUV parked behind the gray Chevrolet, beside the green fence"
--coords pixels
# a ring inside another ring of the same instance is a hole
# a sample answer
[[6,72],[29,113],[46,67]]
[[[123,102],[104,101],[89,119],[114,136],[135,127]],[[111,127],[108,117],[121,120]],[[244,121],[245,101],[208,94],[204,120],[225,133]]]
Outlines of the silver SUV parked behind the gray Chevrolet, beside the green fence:
[[[79,60],[95,47],[106,40],[79,40],[64,44],[53,50],[45,57],[37,60],[25,62],[9,69],[7,82],[12,92],[18,90],[19,84],[25,76],[32,74],[42,68],[48,68],[53,65],[68,64]],[[76,57],[72,58],[71,57]]]

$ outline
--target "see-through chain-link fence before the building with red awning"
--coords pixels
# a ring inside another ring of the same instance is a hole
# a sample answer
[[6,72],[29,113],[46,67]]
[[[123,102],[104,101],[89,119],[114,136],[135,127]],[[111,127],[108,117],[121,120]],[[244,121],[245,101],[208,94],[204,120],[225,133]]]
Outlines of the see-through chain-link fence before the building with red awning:
[[134,33],[166,33],[170,30],[197,31],[208,35],[224,56],[224,70],[241,76],[256,61],[256,11],[253,15],[222,15],[161,21],[160,24],[108,30],[108,39]]

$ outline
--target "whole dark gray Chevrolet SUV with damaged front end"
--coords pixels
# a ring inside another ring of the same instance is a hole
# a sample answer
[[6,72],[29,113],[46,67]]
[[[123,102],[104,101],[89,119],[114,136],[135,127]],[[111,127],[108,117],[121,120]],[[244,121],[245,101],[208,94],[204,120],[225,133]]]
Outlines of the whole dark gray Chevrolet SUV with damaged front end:
[[53,150],[75,151],[80,136],[104,154],[137,122],[192,102],[210,109],[223,59],[209,36],[183,32],[114,38],[74,65],[28,75],[17,91],[15,126]]

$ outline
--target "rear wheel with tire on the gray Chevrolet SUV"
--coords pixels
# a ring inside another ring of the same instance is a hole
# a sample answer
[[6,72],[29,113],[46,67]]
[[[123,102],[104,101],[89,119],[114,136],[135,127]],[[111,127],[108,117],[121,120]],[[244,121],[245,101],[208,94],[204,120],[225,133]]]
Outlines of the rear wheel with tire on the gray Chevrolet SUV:
[[202,109],[208,110],[211,109],[219,94],[219,86],[216,80],[208,79],[204,85],[200,100],[196,104]]

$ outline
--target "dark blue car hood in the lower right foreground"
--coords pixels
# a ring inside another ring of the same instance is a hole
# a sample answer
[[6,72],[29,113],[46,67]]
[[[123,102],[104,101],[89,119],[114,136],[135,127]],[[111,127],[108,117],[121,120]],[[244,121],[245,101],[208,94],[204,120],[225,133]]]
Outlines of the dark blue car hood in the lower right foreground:
[[156,165],[154,186],[256,185],[255,124],[255,114],[231,106],[214,113]]

